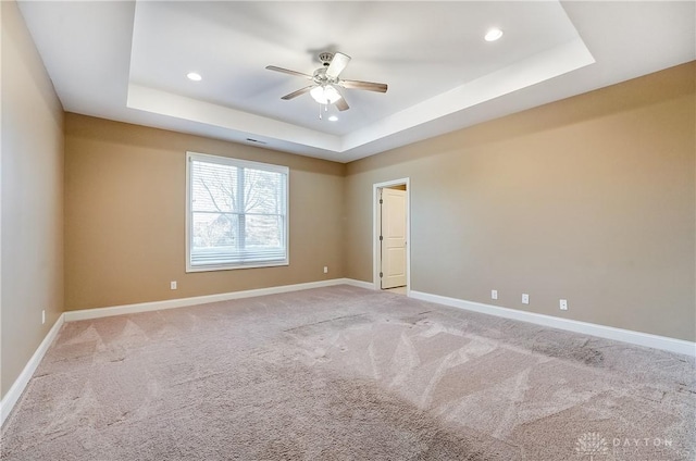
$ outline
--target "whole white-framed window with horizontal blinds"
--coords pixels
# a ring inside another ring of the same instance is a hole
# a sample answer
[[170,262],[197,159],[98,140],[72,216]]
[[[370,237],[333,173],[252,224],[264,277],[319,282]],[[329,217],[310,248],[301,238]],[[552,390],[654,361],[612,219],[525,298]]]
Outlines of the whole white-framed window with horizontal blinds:
[[287,166],[186,154],[187,272],[288,264]]

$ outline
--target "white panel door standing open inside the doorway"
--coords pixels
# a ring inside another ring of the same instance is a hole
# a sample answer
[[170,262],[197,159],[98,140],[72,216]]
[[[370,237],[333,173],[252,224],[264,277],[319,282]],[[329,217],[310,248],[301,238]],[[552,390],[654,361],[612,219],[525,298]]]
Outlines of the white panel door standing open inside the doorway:
[[382,288],[406,285],[406,190],[382,189]]

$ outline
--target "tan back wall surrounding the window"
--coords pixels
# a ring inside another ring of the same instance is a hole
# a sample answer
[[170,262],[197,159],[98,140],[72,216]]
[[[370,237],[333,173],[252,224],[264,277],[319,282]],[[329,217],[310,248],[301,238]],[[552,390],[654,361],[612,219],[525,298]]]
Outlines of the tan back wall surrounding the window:
[[[289,166],[289,266],[186,274],[186,151]],[[343,277],[344,175],[334,162],[69,113],[65,309]]]

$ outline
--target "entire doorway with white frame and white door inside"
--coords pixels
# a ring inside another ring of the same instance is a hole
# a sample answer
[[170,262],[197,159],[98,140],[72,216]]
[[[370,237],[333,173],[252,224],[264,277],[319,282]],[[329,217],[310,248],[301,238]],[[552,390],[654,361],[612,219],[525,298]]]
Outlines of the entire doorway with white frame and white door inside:
[[375,289],[408,296],[411,278],[409,178],[373,185]]

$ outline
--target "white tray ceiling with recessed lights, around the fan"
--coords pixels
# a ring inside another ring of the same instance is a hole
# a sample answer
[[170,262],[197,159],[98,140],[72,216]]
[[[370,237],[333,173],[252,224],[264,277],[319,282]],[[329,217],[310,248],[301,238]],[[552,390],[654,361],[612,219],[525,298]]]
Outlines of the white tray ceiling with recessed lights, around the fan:
[[[66,111],[349,162],[696,59],[696,3],[21,1]],[[505,35],[486,42],[484,34]],[[352,57],[350,110],[271,72]],[[199,83],[186,78],[198,72]],[[330,122],[328,114],[337,114]]]

